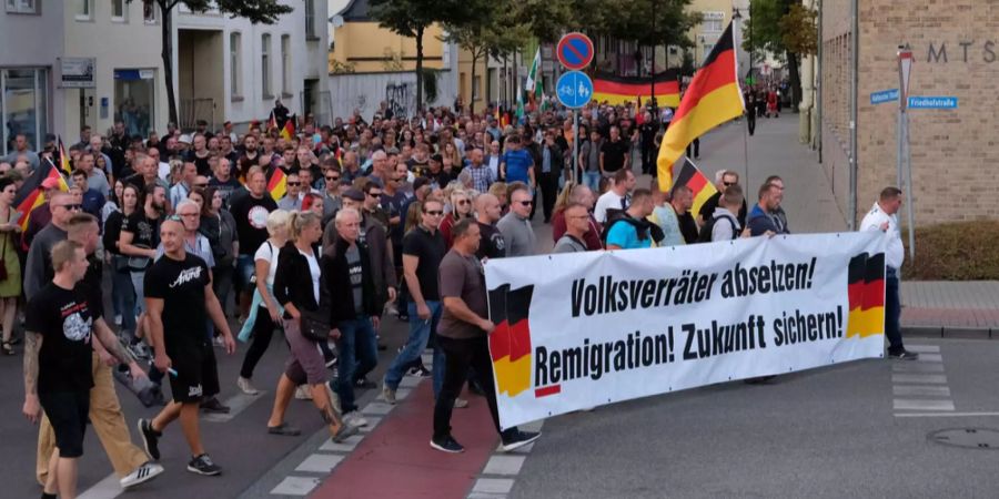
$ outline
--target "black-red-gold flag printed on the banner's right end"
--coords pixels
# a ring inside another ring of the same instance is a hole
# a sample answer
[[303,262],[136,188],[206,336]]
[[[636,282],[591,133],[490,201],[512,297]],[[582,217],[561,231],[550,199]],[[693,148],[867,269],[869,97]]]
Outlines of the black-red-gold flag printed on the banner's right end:
[[861,253],[850,258],[847,337],[885,334],[885,254]]

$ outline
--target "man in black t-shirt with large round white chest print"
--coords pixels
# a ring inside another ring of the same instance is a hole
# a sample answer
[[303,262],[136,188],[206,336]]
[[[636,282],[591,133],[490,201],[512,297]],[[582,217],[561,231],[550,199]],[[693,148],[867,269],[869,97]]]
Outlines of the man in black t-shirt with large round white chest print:
[[236,234],[240,235],[240,255],[236,257],[236,273],[233,284],[240,297],[240,314],[245,317],[250,309],[250,297],[253,285],[253,254],[268,240],[268,215],[278,210],[278,203],[268,194],[268,177],[260,167],[246,172],[249,193],[232,197],[232,217],[236,221]]

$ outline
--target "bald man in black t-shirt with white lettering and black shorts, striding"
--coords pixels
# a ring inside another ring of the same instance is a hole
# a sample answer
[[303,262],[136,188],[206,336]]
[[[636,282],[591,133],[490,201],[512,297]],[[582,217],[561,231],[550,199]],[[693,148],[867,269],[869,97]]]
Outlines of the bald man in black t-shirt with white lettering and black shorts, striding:
[[221,333],[226,354],[235,352],[235,343],[212,292],[208,264],[184,249],[184,234],[183,223],[163,222],[160,227],[163,257],[145,272],[145,303],[155,347],[155,368],[170,374],[173,401],[151,421],[140,419],[139,431],[147,452],[159,459],[159,438],[167,425],[179,417],[192,454],[188,471],[214,476],[222,470],[205,454],[198,429],[201,399],[219,393],[219,373],[205,330],[206,318],[211,317]]

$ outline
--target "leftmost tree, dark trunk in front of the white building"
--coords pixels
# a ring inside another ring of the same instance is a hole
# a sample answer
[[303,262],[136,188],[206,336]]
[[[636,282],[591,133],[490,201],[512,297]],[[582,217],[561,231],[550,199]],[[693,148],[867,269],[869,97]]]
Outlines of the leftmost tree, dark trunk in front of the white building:
[[[131,3],[133,0],[128,0]],[[163,78],[167,80],[167,106],[170,121],[178,123],[176,94],[173,89],[173,8],[183,3],[192,12],[204,12],[212,6],[211,0],[142,0],[144,7],[155,4],[160,8],[160,27],[162,29]],[[214,7],[220,12],[232,18],[245,18],[258,24],[273,24],[283,14],[294,10],[290,6],[283,6],[278,0],[214,0]]]

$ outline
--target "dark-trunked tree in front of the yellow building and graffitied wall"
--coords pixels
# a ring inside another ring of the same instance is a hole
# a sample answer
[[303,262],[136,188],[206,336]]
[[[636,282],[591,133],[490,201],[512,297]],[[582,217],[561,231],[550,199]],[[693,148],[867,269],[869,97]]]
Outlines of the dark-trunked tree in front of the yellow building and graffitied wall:
[[464,0],[370,0],[379,26],[416,40],[416,110],[423,110],[423,35],[435,22],[461,26],[477,12]]

